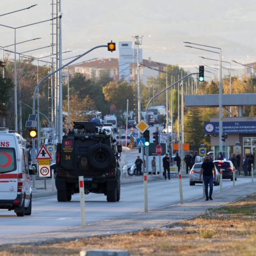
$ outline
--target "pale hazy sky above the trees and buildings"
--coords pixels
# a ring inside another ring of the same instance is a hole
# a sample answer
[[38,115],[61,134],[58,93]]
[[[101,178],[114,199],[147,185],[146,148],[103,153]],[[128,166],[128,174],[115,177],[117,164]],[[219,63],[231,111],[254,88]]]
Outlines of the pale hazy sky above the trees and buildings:
[[[1,0],[0,15],[37,6],[0,16],[0,24],[18,27],[47,20],[51,18],[51,3],[52,0]],[[63,59],[111,40],[117,45],[119,41],[133,41],[133,36],[138,35],[143,36],[140,48],[144,59],[179,65],[186,71],[195,72],[199,65],[214,67],[218,62],[198,56],[218,59],[219,54],[184,47],[183,41],[221,48],[224,61],[256,61],[255,0],[61,0],[61,12],[62,52],[72,51],[63,54]],[[0,31],[0,46],[14,43],[14,29],[0,26]],[[16,42],[35,37],[42,39],[17,45],[16,51],[48,46],[51,43],[50,22],[16,30]],[[38,58],[50,52],[50,48],[46,48],[30,54]],[[106,48],[99,48],[81,61],[95,57],[118,58],[118,50],[111,53]],[[231,63],[232,69],[243,69]],[[226,67],[229,68],[229,64]],[[225,75],[227,71],[223,72]]]

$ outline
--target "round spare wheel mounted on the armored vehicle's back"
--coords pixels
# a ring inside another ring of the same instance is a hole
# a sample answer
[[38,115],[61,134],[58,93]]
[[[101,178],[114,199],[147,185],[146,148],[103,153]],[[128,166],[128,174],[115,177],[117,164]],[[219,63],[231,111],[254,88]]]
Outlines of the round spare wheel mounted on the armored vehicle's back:
[[111,147],[105,144],[95,144],[89,148],[88,163],[95,170],[106,170],[116,162],[114,152]]

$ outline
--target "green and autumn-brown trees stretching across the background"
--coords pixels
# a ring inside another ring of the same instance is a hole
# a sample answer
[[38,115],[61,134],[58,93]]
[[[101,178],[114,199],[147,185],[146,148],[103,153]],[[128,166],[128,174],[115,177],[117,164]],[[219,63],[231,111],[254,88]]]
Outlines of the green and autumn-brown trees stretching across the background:
[[[10,59],[5,60],[5,78],[0,76],[0,123],[5,119],[6,126],[14,129],[14,63]],[[3,69],[3,68],[2,68]],[[39,81],[48,74],[48,66],[39,66]],[[169,65],[164,68],[167,73],[167,86],[176,82],[188,73],[177,65]],[[2,74],[2,72],[1,72]],[[172,75],[173,74],[173,75]],[[37,67],[33,65],[33,59],[22,59],[17,65],[17,101],[22,102],[22,123],[25,127],[29,114],[32,113],[28,106],[32,106],[33,93],[37,85]],[[45,81],[39,90],[40,112],[49,116],[51,107],[50,95],[51,81]],[[180,85],[179,85],[180,86]],[[187,78],[182,82],[184,94],[218,94],[219,81],[197,82],[197,78]],[[231,77],[231,93],[254,93],[256,78],[237,76]],[[166,74],[160,73],[157,78],[148,78],[146,84],[141,84],[141,105],[145,109],[148,100],[166,88]],[[21,89],[21,90],[19,90]],[[154,92],[153,92],[154,90]],[[230,90],[229,77],[223,78],[223,93],[228,94]],[[63,112],[68,112],[68,86],[63,83]],[[97,110],[102,115],[110,114],[110,106],[114,104],[115,110],[112,114],[122,117],[126,111],[126,102],[129,99],[129,110],[134,109],[135,95],[137,93],[136,83],[126,81],[114,81],[108,71],[103,71],[99,78],[86,77],[83,74],[75,73],[69,82],[69,95],[71,106],[71,121],[89,121],[92,116],[81,115],[81,112]],[[179,93],[179,96],[178,96]],[[168,109],[173,106],[174,129],[178,129],[178,99],[181,105],[181,90],[175,86],[173,90],[168,90]],[[173,101],[172,101],[173,100]],[[163,93],[154,100],[155,105],[166,104],[166,94]],[[200,147],[204,143],[210,146],[210,138],[204,136],[204,121],[209,121],[210,117],[218,117],[219,108],[187,108],[184,107],[184,141],[190,144],[192,150]],[[244,116],[255,116],[254,106],[244,106]],[[223,116],[229,116],[226,111]],[[237,115],[237,109],[232,108],[232,115]],[[63,117],[63,125],[67,124],[67,117]],[[42,127],[47,126],[47,120],[41,116]],[[23,129],[24,130],[24,129]],[[26,137],[26,132],[25,132]]]

